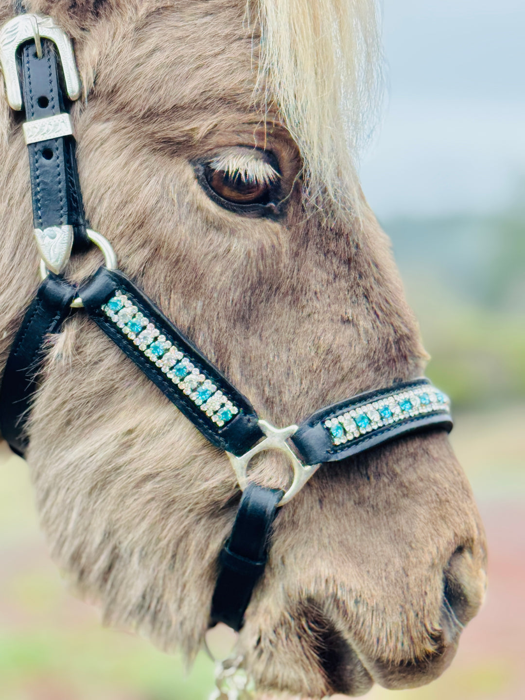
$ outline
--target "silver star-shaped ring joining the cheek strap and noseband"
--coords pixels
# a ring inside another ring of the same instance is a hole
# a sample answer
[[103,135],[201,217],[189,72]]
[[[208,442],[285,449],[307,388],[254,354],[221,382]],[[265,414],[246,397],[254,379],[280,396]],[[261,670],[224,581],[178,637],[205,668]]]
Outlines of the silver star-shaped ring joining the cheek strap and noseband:
[[296,496],[297,493],[299,493],[311,475],[314,474],[321,465],[303,465],[297,459],[297,456],[295,456],[295,453],[290,448],[288,442],[286,442],[288,437],[291,437],[297,431],[297,426],[276,428],[275,426],[272,426],[271,423],[267,423],[267,421],[259,421],[259,427],[266,435],[264,440],[258,442],[255,447],[252,447],[241,457],[237,457],[235,454],[231,454],[231,452],[226,452],[226,454],[228,454],[228,457],[230,458],[230,462],[232,463],[235,475],[237,476],[237,481],[239,482],[241,491],[244,491],[246,486],[248,486],[248,462],[253,456],[255,456],[255,454],[267,449],[278,449],[279,451],[283,452],[283,454],[286,454],[293,469],[293,482],[279,502],[279,505],[285,505],[294,496]]

